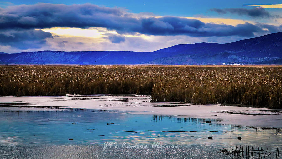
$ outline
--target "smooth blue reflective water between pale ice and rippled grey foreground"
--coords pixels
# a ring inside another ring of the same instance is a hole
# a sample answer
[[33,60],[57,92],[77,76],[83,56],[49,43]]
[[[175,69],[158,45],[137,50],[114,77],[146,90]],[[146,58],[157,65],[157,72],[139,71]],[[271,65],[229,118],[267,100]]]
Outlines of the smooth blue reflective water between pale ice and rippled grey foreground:
[[[215,119],[136,115],[90,109],[2,110],[0,111],[0,145],[102,146],[104,142],[117,144],[161,142],[228,148],[249,143],[270,149],[282,143],[280,129],[238,127],[217,124],[217,122],[218,120]],[[114,124],[107,125],[107,123]],[[213,136],[213,140],[208,139],[209,136]],[[242,141],[237,139],[240,136]]]

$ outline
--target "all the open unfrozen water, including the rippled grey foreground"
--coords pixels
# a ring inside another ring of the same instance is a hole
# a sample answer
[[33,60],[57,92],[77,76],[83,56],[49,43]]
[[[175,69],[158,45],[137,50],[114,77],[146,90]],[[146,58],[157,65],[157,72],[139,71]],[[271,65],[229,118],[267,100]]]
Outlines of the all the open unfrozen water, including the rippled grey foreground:
[[[212,121],[212,123],[206,123],[206,121]],[[136,152],[139,154],[137,158],[146,158],[154,153],[160,155],[158,154],[160,152],[163,152],[163,155],[175,154],[178,157],[188,158],[193,156],[206,158],[211,157],[211,154],[214,158],[225,158],[226,156],[216,150],[219,148],[230,150],[233,145],[248,143],[254,147],[268,148],[268,152],[274,152],[277,146],[282,147],[280,129],[238,127],[217,124],[217,122],[218,120],[215,119],[136,115],[128,112],[91,109],[11,111],[1,108],[0,151],[2,156],[0,158],[25,158],[25,156],[29,158],[31,154],[52,158],[52,155],[56,153],[59,156],[62,155],[62,158],[89,158],[91,157],[89,155],[94,158],[129,155],[127,157],[130,158],[130,155],[132,157]],[[208,139],[209,136],[213,136],[213,140]],[[237,139],[240,136],[242,141]],[[107,147],[106,151],[102,151],[105,142],[115,142],[113,145],[119,147],[117,149]],[[149,147],[154,142],[160,142],[161,145],[179,145],[180,148],[178,151],[170,148],[157,152],[154,152],[155,149],[152,148],[121,149],[123,142],[126,142],[126,145],[149,145]],[[13,149],[15,151],[11,153]],[[54,153],[50,155],[50,151]],[[85,153],[82,152],[87,151],[88,156],[83,156]]]

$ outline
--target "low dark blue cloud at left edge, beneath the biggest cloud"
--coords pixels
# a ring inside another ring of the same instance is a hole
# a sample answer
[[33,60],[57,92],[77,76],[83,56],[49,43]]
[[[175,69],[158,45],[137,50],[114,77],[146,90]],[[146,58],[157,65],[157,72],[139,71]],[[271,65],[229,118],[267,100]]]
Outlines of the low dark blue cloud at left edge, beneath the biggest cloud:
[[41,48],[46,45],[46,38],[53,38],[42,30],[2,30],[0,45],[9,45],[18,49]]

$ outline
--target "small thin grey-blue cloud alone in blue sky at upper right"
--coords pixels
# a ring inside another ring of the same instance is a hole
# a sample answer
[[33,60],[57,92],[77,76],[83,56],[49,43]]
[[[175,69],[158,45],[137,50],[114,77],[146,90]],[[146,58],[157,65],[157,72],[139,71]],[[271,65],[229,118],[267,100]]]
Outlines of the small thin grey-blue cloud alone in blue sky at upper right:
[[253,18],[269,18],[269,17],[279,17],[277,15],[270,15],[264,8],[253,8],[253,9],[244,9],[244,8],[226,8],[226,9],[210,9],[211,11],[215,11],[218,14],[227,14],[228,12],[231,14],[237,15],[246,15]]

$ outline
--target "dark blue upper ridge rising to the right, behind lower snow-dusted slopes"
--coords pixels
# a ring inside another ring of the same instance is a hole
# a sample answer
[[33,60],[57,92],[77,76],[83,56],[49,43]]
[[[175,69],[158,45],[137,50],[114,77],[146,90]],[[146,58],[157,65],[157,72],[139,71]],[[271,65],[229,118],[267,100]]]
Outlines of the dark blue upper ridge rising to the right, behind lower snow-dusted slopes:
[[282,57],[282,32],[240,40],[227,44],[180,44],[154,52],[186,55],[213,55],[228,52],[248,57]]

